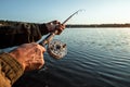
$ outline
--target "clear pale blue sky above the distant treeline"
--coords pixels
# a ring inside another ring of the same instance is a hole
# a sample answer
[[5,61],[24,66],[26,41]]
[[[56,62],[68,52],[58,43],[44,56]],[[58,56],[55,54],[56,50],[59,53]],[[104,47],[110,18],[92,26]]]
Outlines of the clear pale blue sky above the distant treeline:
[[0,20],[67,24],[130,23],[130,0],[0,0]]

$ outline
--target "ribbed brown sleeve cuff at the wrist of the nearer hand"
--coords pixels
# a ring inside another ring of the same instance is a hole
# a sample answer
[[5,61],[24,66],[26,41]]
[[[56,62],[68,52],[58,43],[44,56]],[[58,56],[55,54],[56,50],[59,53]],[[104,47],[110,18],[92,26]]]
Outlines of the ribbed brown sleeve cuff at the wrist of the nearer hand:
[[14,82],[23,75],[23,66],[10,53],[1,53],[0,60],[2,60],[0,63],[3,70],[2,72],[4,72],[5,77],[11,80],[10,84],[14,84]]

